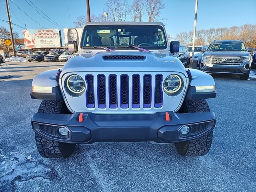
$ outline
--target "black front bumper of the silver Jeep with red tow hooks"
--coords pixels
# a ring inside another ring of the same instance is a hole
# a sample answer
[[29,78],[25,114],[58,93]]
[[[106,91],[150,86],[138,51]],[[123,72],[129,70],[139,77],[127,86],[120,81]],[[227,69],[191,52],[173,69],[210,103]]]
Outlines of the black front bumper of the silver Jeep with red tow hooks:
[[[33,130],[60,142],[92,144],[94,142],[180,142],[199,138],[214,129],[216,117],[213,112],[178,114],[168,112],[154,114],[93,114],[84,113],[83,122],[78,121],[79,113],[33,114]],[[188,136],[180,136],[180,129],[188,125]],[[68,129],[67,136],[61,136],[60,127]]]

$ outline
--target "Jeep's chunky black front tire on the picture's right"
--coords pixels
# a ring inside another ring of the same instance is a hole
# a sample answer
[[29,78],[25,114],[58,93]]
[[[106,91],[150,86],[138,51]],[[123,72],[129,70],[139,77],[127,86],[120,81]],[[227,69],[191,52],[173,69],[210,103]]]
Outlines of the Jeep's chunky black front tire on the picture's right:
[[[184,100],[181,113],[195,113],[195,112],[209,112],[210,108],[205,99],[202,100]],[[184,142],[174,143],[177,151],[181,155],[187,156],[202,156],[209,152],[212,145],[213,131],[208,132],[206,135]]]

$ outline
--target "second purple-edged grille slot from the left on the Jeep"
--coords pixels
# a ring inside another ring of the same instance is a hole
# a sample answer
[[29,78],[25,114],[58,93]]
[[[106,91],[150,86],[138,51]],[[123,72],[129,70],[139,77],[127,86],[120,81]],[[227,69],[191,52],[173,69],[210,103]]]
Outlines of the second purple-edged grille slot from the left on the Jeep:
[[106,83],[105,83],[104,75],[98,75],[97,87],[98,87],[98,108],[106,108]]

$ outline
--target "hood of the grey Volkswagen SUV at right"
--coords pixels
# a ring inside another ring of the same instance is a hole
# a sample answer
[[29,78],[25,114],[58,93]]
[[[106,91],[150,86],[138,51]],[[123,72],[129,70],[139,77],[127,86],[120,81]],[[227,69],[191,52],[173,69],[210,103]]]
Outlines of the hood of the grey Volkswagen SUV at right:
[[249,56],[249,53],[247,51],[213,51],[213,52],[205,52],[204,56],[245,57],[245,56]]

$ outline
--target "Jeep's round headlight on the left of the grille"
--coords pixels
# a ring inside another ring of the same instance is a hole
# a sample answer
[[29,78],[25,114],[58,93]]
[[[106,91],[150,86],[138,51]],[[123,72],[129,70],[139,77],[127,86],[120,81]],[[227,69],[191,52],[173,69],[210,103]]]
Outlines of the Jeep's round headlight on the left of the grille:
[[81,93],[85,89],[85,82],[79,75],[71,75],[67,79],[67,87],[72,93]]

